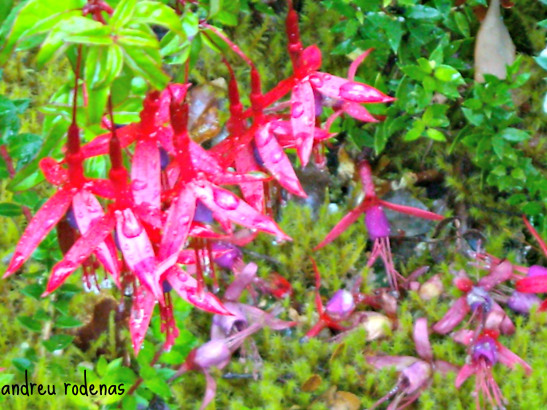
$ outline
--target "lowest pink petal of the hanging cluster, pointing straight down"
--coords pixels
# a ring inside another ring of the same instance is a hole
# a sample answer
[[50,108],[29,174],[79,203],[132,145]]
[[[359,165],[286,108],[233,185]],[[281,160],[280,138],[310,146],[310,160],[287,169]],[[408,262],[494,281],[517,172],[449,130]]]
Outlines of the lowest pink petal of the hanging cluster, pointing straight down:
[[142,342],[146,336],[146,331],[150,325],[152,312],[156,298],[144,286],[137,286],[133,296],[133,305],[131,306],[131,316],[129,318],[129,331],[131,332],[131,341],[135,356],[139,355]]

